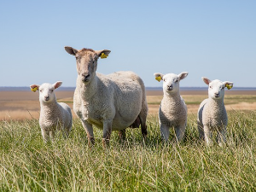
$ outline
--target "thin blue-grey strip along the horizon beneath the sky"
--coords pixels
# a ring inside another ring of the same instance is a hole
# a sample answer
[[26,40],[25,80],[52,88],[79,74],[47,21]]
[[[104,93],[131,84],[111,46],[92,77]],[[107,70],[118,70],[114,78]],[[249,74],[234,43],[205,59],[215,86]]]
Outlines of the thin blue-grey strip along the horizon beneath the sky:
[[[74,91],[75,87],[60,87],[58,91]],[[162,87],[146,87],[146,90],[162,90]],[[207,87],[181,87],[182,91],[207,90]],[[232,90],[256,90],[256,87],[234,87]],[[29,87],[0,87],[0,91],[31,91]]]

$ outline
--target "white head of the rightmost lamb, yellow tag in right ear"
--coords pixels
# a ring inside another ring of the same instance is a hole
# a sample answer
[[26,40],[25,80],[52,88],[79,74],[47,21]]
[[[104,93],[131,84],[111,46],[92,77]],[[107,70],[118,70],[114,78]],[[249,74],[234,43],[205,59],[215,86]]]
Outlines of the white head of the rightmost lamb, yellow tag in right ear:
[[233,87],[233,83],[230,81],[220,81],[218,79],[216,80],[210,80],[207,78],[202,77],[203,81],[208,84],[208,95],[210,98],[214,100],[223,100],[224,99],[224,88],[228,87],[228,89]]

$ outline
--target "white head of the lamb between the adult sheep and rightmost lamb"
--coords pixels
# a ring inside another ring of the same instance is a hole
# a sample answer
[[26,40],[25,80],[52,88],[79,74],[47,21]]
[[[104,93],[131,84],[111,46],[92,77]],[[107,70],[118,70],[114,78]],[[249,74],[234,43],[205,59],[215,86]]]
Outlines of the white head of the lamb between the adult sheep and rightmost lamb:
[[154,73],[156,80],[163,80],[163,90],[168,94],[179,92],[179,81],[185,79],[188,76],[188,72],[183,72],[180,74],[168,73],[166,75],[162,73]]

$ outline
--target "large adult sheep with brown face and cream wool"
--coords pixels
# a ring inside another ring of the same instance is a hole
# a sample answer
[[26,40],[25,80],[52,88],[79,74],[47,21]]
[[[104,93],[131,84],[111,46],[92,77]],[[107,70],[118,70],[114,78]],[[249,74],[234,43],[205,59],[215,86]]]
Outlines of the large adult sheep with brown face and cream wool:
[[108,49],[73,49],[65,47],[76,57],[77,83],[73,110],[87,133],[89,145],[94,144],[93,127],[103,130],[103,147],[109,145],[112,131],[125,139],[125,128],[139,127],[147,135],[148,104],[143,80],[133,72],[96,73],[98,58],[107,58]]

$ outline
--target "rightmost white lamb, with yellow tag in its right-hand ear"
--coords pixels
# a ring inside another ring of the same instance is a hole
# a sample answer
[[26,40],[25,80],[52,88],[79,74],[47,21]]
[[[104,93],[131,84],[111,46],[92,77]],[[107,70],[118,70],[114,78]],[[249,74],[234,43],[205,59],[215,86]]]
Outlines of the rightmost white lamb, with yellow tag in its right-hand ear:
[[210,80],[202,77],[209,86],[208,97],[199,107],[197,113],[197,128],[201,139],[205,139],[207,145],[212,145],[212,131],[218,131],[218,144],[223,146],[226,140],[226,127],[228,115],[224,106],[224,88],[233,87],[230,81]]

